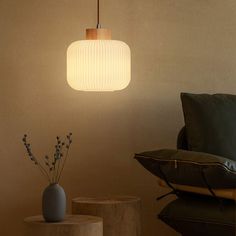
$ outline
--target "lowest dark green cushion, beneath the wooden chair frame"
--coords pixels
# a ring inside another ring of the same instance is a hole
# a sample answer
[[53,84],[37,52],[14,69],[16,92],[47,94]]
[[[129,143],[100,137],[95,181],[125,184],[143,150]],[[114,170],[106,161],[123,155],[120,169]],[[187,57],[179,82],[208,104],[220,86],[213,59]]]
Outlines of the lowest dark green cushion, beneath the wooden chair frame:
[[200,195],[185,196],[169,203],[159,218],[183,236],[235,236],[234,201],[220,206],[216,199]]

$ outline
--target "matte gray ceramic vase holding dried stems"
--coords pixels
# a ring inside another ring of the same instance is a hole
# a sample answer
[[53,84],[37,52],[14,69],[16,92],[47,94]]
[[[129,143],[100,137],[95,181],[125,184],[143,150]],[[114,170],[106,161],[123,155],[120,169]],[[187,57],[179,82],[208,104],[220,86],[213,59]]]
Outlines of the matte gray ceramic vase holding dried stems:
[[43,217],[46,222],[60,222],[66,213],[66,194],[59,184],[50,184],[43,192]]

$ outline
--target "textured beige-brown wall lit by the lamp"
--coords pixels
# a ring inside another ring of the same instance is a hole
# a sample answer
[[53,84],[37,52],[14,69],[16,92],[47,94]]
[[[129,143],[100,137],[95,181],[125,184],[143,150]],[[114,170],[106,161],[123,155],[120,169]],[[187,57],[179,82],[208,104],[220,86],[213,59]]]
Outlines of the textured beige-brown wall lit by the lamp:
[[131,47],[132,82],[120,92],[76,92],[66,82],[66,49],[96,25],[95,14],[95,0],[0,0],[0,235],[23,235],[47,184],[22,135],[42,156],[69,131],[68,200],[137,195],[142,236],[178,235],[156,220],[171,198],[155,202],[166,190],[133,153],[175,147],[181,91],[236,92],[236,1],[101,0],[103,26]]

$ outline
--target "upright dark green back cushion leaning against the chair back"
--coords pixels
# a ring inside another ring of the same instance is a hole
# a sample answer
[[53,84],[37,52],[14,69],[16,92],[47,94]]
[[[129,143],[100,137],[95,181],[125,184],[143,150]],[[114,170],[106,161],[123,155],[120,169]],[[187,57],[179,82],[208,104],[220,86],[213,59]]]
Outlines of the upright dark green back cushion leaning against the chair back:
[[181,94],[188,149],[236,160],[236,95]]

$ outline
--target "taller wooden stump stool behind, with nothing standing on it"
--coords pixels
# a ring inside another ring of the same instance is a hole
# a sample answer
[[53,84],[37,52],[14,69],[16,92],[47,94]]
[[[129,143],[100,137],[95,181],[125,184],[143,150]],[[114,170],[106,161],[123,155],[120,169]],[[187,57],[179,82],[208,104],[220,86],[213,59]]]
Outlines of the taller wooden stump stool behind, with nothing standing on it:
[[76,198],[72,214],[103,218],[104,236],[140,236],[140,199],[137,197]]

